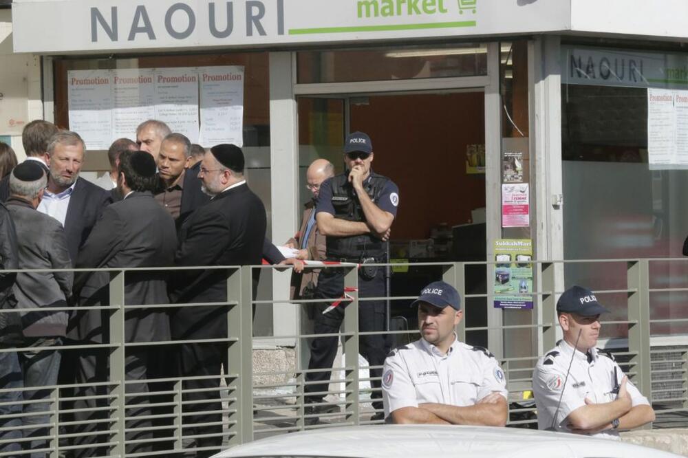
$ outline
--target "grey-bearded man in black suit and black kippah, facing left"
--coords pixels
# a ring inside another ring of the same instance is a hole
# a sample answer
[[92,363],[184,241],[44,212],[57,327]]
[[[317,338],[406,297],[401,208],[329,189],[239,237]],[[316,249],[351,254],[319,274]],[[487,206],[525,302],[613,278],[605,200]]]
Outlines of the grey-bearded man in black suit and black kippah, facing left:
[[[178,266],[256,265],[266,232],[263,202],[252,193],[244,179],[244,153],[235,145],[220,144],[204,155],[200,165],[204,193],[211,201],[198,208],[180,231],[175,254]],[[227,301],[227,270],[190,270],[175,279],[171,294],[176,303],[208,303]],[[171,334],[175,340],[227,337],[226,307],[180,307],[171,316]],[[222,364],[227,367],[226,342],[184,344],[179,351],[180,375],[219,375]],[[222,409],[219,378],[184,382],[185,389],[208,389],[188,393],[186,400],[205,401],[184,406],[198,415],[183,417],[184,435],[213,434],[215,437],[196,439],[196,446],[222,445],[222,426],[195,428],[195,423],[220,422],[222,415],[205,413]],[[197,456],[210,456],[203,452]]]

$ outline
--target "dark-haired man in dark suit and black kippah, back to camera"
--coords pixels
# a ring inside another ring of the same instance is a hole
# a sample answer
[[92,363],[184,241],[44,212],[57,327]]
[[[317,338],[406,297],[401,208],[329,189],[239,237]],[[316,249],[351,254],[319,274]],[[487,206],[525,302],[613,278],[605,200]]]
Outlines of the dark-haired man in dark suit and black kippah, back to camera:
[[[173,265],[177,248],[174,221],[164,208],[153,199],[156,182],[155,161],[143,151],[125,151],[120,155],[117,187],[124,198],[107,206],[98,223],[79,252],[77,268],[147,268]],[[152,305],[169,303],[167,274],[164,271],[135,271],[125,275],[125,305]],[[109,274],[86,272],[78,274],[75,289],[79,290],[80,305],[109,304]],[[109,341],[107,317],[100,311],[77,314],[72,320],[78,339],[82,342]],[[169,318],[165,309],[136,308],[125,312],[125,340],[127,342],[167,341]],[[151,347],[128,347],[125,354],[127,380],[140,383],[127,384],[128,393],[142,393],[130,397],[127,404],[149,404],[147,380],[151,374],[157,352]],[[107,351],[82,351],[79,356],[77,381],[103,382],[107,380]],[[151,377],[152,375],[152,377]],[[87,394],[87,393],[84,393]],[[87,407],[89,402],[84,401]],[[92,405],[95,406],[95,405]],[[87,416],[89,413],[86,413]],[[142,405],[131,408],[127,416],[151,415],[151,409]],[[138,428],[128,433],[127,440],[150,439],[150,419],[133,419],[127,428]],[[151,444],[127,447],[127,453],[152,451]]]

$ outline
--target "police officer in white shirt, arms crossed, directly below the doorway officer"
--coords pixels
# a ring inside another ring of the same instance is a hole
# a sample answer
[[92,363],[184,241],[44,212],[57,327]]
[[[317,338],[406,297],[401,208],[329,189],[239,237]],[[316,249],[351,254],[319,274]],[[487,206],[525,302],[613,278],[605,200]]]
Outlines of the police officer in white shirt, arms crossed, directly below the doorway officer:
[[444,281],[424,287],[418,304],[422,338],[395,349],[383,368],[388,423],[506,424],[506,380],[492,353],[459,342],[458,292]]

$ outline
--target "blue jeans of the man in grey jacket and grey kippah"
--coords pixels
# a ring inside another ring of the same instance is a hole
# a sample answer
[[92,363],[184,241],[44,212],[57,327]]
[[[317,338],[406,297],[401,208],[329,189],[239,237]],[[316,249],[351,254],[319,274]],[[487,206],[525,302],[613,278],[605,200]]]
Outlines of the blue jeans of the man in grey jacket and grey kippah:
[[[26,343],[26,347],[59,347],[62,344],[60,338],[36,338]],[[24,375],[25,387],[52,386],[57,384],[57,373],[60,370],[61,353],[55,350],[41,351],[21,351],[19,353],[19,364]],[[36,389],[24,391],[24,400],[46,400],[47,402],[37,402],[36,404],[25,404],[23,413],[29,414],[22,418],[24,437],[45,437],[50,436],[50,413],[54,407],[50,403],[50,389]],[[25,441],[24,450],[36,450],[48,446],[47,439],[34,439]],[[29,455],[31,458],[43,458],[45,452],[36,452]],[[24,455],[26,456],[26,455]]]

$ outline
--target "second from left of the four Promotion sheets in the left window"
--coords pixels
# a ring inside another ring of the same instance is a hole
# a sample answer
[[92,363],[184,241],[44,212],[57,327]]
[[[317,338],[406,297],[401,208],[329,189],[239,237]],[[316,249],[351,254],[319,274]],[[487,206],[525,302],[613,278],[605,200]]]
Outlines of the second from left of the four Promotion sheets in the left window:
[[[136,127],[155,118],[155,85],[150,69],[112,71],[112,140],[136,138]],[[70,118],[71,121],[71,118]]]

